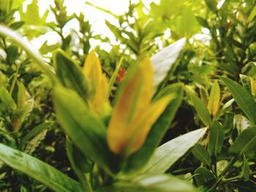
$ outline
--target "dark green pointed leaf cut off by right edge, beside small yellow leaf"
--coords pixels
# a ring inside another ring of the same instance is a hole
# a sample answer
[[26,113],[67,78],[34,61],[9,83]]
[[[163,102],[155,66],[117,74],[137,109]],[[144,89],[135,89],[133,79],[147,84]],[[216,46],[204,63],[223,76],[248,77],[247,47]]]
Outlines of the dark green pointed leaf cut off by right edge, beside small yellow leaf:
[[256,103],[252,98],[251,94],[246,91],[241,85],[227,77],[219,77],[227,88],[229,88],[233,98],[235,99],[238,106],[243,110],[247,118],[249,118],[252,124],[256,123]]

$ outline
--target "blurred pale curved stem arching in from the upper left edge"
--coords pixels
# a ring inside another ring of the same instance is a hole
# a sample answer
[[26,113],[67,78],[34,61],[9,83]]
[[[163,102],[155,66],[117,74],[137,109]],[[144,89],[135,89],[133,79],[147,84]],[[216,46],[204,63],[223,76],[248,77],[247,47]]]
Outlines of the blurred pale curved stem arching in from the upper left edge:
[[29,44],[29,42],[26,42],[23,37],[21,37],[19,34],[17,34],[15,31],[13,31],[10,28],[7,28],[6,26],[3,26],[0,24],[0,35],[4,37],[9,37],[14,41],[16,44],[18,44],[20,47],[23,48],[23,50],[26,51],[28,55],[31,56],[31,58],[34,59],[34,61],[37,61],[37,64],[39,64],[40,68],[42,69],[45,74],[47,74],[53,82],[57,82],[56,75],[50,65],[45,63],[42,56],[37,53],[34,49],[34,47]]

